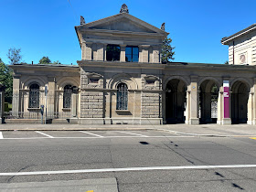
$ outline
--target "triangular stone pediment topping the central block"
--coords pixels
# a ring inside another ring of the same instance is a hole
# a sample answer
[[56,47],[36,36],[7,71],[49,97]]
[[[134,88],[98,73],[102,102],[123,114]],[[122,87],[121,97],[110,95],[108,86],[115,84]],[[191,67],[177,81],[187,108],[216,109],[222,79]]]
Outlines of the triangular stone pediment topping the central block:
[[143,33],[155,33],[166,35],[167,33],[160,28],[154,27],[143,20],[131,16],[126,13],[118,14],[115,16],[109,16],[91,23],[82,25],[80,27],[91,29],[105,29],[116,31],[131,31],[131,32],[143,32]]

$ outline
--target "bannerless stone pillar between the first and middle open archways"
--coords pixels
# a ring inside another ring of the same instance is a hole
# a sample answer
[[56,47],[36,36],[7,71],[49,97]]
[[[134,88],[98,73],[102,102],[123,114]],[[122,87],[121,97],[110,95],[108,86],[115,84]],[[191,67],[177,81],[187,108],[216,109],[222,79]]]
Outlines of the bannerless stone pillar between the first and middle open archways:
[[190,83],[190,119],[189,124],[199,124],[197,76],[191,76]]

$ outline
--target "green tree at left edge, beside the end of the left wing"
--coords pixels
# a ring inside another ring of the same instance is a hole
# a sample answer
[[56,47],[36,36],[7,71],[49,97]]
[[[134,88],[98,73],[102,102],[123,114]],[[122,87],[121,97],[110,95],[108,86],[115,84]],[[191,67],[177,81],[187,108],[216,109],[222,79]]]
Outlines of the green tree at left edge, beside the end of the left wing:
[[0,83],[5,85],[5,102],[12,102],[13,95],[13,70],[0,58]]

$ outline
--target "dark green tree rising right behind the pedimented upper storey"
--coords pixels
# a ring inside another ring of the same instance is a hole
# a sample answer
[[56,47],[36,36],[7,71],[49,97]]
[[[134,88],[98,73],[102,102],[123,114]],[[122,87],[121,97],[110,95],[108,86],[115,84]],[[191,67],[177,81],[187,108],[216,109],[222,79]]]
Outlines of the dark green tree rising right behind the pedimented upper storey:
[[175,47],[171,46],[172,39],[165,37],[161,47],[161,54],[162,54],[162,63],[171,62],[174,59],[175,51],[173,49]]

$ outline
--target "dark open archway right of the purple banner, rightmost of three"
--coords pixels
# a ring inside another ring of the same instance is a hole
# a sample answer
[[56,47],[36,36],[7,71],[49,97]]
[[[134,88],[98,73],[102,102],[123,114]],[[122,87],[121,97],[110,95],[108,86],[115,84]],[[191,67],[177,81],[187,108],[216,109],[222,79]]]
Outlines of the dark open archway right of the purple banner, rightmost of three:
[[238,80],[231,87],[231,122],[247,123],[249,86]]

